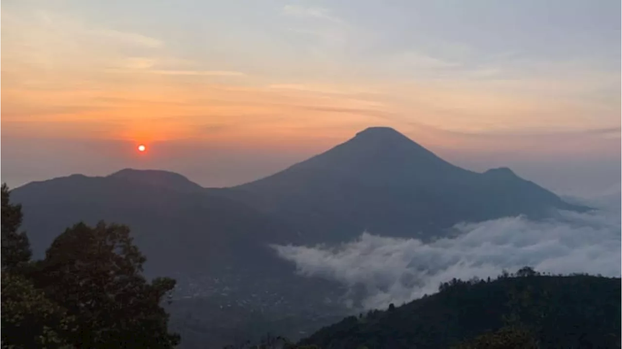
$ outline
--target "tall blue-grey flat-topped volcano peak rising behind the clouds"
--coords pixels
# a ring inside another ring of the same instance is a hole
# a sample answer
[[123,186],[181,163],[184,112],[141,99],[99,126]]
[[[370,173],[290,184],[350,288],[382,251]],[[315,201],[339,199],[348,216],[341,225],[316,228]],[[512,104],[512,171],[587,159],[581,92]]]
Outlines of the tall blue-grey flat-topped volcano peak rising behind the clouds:
[[586,209],[508,168],[454,166],[388,127],[224,194],[289,222],[307,243],[350,240],[363,230],[426,238],[458,222]]

